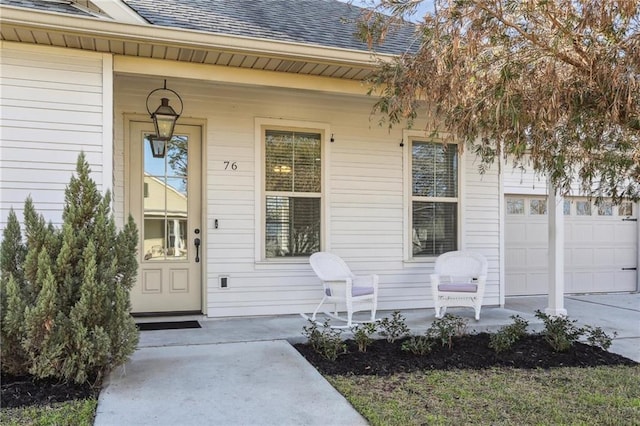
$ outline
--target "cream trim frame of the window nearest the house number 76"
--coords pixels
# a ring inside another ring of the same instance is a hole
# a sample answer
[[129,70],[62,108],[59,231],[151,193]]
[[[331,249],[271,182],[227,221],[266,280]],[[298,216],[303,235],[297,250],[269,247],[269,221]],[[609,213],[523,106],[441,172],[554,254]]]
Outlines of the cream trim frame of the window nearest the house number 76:
[[329,158],[328,151],[330,146],[330,144],[327,143],[327,135],[331,135],[331,128],[327,123],[321,122],[283,120],[275,118],[255,119],[255,263],[258,265],[308,264],[309,259],[306,256],[278,258],[266,257],[265,209],[267,191],[265,190],[264,167],[266,160],[265,133],[267,130],[284,130],[320,134],[320,158],[322,162],[320,175],[320,250],[327,250],[329,247],[329,224],[327,220],[329,217],[327,212],[329,206],[327,191],[329,167],[327,166],[327,159]]

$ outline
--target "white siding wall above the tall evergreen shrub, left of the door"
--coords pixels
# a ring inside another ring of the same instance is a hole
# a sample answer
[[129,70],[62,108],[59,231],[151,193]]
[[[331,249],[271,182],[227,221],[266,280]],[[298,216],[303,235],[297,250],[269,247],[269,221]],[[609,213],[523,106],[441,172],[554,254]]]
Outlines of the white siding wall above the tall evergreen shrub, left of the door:
[[21,219],[28,195],[59,224],[80,151],[98,188],[111,187],[111,57],[0,46],[0,225],[11,207]]

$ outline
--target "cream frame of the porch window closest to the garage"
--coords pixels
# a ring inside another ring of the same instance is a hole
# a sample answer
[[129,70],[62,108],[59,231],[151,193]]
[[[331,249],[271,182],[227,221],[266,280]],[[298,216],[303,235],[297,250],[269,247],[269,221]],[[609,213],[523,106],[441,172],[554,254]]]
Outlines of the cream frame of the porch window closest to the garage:
[[[452,140],[448,140],[448,134],[439,133],[437,137],[430,136],[425,133],[425,131],[418,130],[404,130],[403,131],[403,199],[404,199],[404,225],[403,225],[403,235],[404,235],[404,262],[408,266],[411,264],[424,264],[424,263],[433,263],[434,260],[438,256],[414,256],[413,255],[413,173],[412,173],[412,164],[413,164],[413,143],[414,142],[434,142],[440,144],[448,144],[452,147],[458,148],[458,142],[454,142]],[[457,203],[457,235],[456,235],[456,246],[458,250],[462,250],[463,241],[462,235],[464,230],[464,218],[462,217],[463,212],[463,169],[464,169],[464,158],[463,154],[458,150],[458,170],[457,176],[458,179],[458,193],[456,197]],[[440,202],[450,201],[449,197],[419,197],[424,198],[425,201],[428,202]]]

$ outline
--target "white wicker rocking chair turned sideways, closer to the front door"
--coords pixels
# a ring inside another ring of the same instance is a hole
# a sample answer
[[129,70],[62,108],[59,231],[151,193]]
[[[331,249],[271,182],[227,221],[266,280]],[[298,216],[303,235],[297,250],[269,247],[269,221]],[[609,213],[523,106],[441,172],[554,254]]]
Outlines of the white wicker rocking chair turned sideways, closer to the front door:
[[[376,320],[378,307],[378,276],[355,275],[347,264],[338,256],[327,252],[318,252],[309,258],[311,268],[322,281],[322,300],[311,320],[325,303],[334,304],[334,313],[325,313],[329,317],[346,321],[346,327],[354,325],[353,313],[361,310],[371,310],[371,321]],[[346,305],[347,318],[338,315],[338,304]]]

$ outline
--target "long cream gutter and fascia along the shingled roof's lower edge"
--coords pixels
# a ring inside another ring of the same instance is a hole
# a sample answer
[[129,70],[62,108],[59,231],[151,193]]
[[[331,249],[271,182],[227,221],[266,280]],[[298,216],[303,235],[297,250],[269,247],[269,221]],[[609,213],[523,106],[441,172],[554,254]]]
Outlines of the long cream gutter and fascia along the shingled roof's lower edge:
[[155,25],[138,25],[76,17],[57,13],[42,13],[22,8],[0,6],[0,24],[25,29],[55,31],[129,42],[161,44],[186,48],[220,50],[247,55],[263,55],[302,61],[318,61],[363,68],[374,68],[378,60],[390,60],[393,55],[376,54],[303,43],[284,42],[251,37],[214,34]]

